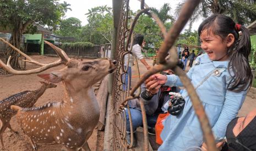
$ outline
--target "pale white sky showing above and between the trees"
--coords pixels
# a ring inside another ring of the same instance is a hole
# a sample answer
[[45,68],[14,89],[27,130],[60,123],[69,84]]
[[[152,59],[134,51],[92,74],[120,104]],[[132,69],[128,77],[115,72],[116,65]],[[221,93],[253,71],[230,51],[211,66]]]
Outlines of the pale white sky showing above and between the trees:
[[[71,4],[69,8],[72,9],[72,11],[68,10],[66,13],[66,19],[70,17],[78,18],[80,21],[82,21],[82,25],[88,24],[88,21],[86,19],[86,13],[88,13],[88,9],[101,6],[101,5],[107,5],[108,7],[112,7],[112,0],[60,0],[60,3],[63,3],[63,1],[66,1],[68,4]],[[171,3],[170,3],[171,2]],[[170,3],[172,10],[171,14],[175,16],[175,8],[176,5],[181,2],[181,0],[145,0],[145,3],[149,5],[149,7],[155,7],[156,9],[160,9],[164,3]],[[130,0],[129,1],[130,9],[133,11],[137,11],[140,9],[140,2],[138,0]],[[202,20],[198,20],[194,22],[192,31],[197,30],[198,26],[200,25]],[[185,28],[188,28],[188,25],[185,26]]]

